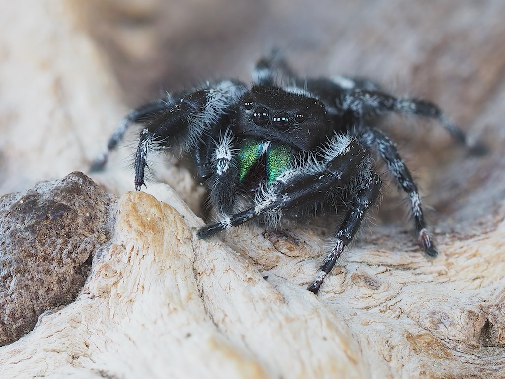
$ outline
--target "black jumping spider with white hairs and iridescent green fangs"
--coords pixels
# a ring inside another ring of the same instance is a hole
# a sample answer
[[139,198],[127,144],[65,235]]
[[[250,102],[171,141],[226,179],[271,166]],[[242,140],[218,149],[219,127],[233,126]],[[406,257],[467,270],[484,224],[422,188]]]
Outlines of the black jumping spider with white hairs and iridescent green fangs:
[[275,57],[260,60],[255,76],[250,89],[234,80],[207,83],[132,110],[93,168],[104,166],[129,125],[141,123],[135,188],[145,184],[151,153],[187,153],[221,217],[200,228],[199,238],[252,219],[278,225],[323,213],[341,216],[332,248],[308,287],[317,294],[377,201],[381,178],[372,157],[378,154],[407,193],[420,245],[427,255],[438,254],[416,183],[395,144],[376,128],[378,120],[384,112],[433,118],[473,152],[482,153],[481,146],[470,146],[435,104],[395,98],[367,80],[299,79]]

